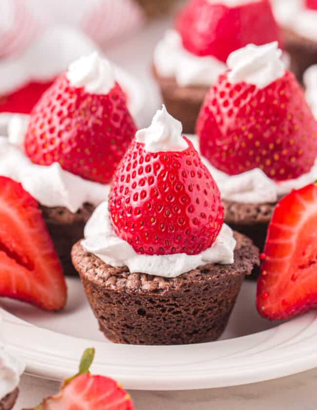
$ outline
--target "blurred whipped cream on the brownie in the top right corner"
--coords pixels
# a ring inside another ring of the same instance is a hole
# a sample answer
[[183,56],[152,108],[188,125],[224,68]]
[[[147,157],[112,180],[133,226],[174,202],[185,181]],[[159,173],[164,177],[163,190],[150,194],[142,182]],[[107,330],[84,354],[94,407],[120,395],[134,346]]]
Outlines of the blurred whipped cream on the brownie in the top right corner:
[[317,41],[317,10],[306,8],[304,0],[275,0],[272,6],[281,26],[306,39]]

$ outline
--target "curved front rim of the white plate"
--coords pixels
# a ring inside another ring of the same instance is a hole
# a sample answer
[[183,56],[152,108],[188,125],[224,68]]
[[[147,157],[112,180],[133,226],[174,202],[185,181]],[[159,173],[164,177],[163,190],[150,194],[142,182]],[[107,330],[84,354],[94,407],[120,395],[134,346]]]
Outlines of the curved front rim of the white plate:
[[[136,346],[92,342],[89,339],[69,336],[32,325],[2,308],[0,308],[0,314],[3,316],[8,350],[26,363],[27,374],[49,380],[61,381],[74,374],[80,352],[90,345],[96,347],[96,360],[92,371],[113,377],[125,389],[130,390],[197,390],[238,386],[289,376],[317,367],[317,348],[314,348],[317,346],[316,312],[306,313],[290,322],[251,335],[183,346]],[[29,332],[30,328],[32,332]],[[51,347],[46,345],[45,340],[51,340],[56,346],[62,346],[58,355],[52,354]],[[272,340],[273,345],[271,347],[268,345],[266,349],[265,346],[272,343]],[[171,357],[178,356],[178,360],[181,360],[181,357],[193,357],[191,356],[193,354],[199,356],[198,352],[201,351],[212,352],[215,349],[220,351],[229,349],[230,351],[234,346],[237,346],[237,349],[233,355],[227,355],[223,359],[216,357],[211,360],[207,371],[199,370],[199,366],[205,366],[208,361],[200,363],[194,360],[193,363],[188,364],[171,366],[163,364],[153,368],[143,366],[139,371],[132,365],[116,366],[107,363],[107,359],[103,359],[103,354],[112,359],[122,358],[122,354],[125,354],[129,359],[142,355],[143,350],[143,355],[146,353],[151,358],[171,355]],[[251,354],[243,355],[243,349],[240,350],[243,346],[251,346]],[[259,350],[260,346],[264,350]],[[297,354],[294,354],[295,350]],[[230,363],[230,366],[221,367],[223,360]],[[257,371],[255,371],[254,363],[257,363]],[[189,369],[184,371],[184,366],[187,365]],[[191,366],[194,366],[195,371],[190,370]]]

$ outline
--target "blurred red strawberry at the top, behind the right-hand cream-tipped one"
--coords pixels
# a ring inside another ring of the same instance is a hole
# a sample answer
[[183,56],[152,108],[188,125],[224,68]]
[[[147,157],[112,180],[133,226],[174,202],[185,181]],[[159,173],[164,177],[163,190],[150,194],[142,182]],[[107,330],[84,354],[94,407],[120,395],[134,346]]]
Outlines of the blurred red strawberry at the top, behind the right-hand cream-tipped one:
[[230,53],[253,43],[278,41],[281,36],[269,0],[227,7],[221,1],[191,0],[179,14],[176,28],[184,47],[197,56],[226,62]]

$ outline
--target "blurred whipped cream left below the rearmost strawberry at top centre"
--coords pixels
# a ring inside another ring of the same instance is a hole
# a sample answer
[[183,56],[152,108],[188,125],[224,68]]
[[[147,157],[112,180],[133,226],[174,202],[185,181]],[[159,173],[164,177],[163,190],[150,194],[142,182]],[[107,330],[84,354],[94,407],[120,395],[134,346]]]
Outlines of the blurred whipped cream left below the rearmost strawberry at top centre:
[[177,31],[166,31],[154,52],[154,65],[162,77],[175,77],[180,86],[206,85],[216,81],[227,66],[215,57],[189,53]]

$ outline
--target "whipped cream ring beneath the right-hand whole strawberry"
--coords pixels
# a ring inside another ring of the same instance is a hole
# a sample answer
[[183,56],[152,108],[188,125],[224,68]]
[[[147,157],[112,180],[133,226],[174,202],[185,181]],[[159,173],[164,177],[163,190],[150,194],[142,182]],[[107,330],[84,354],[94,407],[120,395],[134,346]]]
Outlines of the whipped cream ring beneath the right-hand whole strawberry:
[[[199,152],[197,137],[188,137]],[[238,175],[228,175],[213,167],[207,158],[201,160],[215,179],[221,198],[240,203],[275,203],[277,199],[317,180],[317,159],[311,170],[296,179],[275,181],[262,170],[255,168]]]

